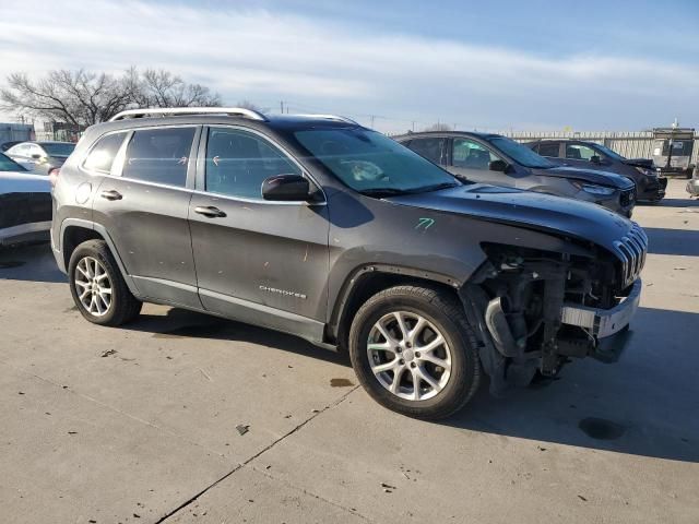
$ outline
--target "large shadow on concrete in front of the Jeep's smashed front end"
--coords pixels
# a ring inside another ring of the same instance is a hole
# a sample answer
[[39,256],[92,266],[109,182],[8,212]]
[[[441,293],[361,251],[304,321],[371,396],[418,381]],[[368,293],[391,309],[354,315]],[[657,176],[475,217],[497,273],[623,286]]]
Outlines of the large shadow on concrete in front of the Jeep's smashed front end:
[[[699,314],[640,308],[617,364],[592,359],[560,380],[495,398],[482,388],[446,424],[487,433],[699,462]],[[659,327],[662,326],[662,330]],[[667,340],[663,333],[674,333]],[[682,362],[676,365],[673,362]],[[537,444],[542,453],[546,444]]]

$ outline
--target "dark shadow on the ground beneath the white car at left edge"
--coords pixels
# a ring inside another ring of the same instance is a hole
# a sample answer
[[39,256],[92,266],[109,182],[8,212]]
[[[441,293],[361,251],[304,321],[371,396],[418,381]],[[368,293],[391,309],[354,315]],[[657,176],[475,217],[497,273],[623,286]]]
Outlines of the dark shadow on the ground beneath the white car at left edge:
[[0,279],[67,282],[47,242],[0,248]]

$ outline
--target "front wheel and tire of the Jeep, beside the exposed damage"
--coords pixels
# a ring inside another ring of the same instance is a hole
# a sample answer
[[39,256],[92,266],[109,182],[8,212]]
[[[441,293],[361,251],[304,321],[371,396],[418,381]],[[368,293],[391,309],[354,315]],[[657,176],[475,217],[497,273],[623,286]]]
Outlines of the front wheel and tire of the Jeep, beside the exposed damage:
[[415,418],[452,415],[481,380],[463,308],[433,288],[396,286],[367,300],[350,330],[350,357],[375,401]]

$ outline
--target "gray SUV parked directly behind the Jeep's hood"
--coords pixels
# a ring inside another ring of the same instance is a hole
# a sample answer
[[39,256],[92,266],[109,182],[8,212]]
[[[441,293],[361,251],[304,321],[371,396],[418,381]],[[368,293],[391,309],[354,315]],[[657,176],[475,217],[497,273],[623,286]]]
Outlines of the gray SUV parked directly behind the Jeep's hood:
[[499,134],[427,132],[395,140],[453,175],[474,182],[594,202],[625,216],[631,216],[636,204],[636,189],[628,178],[557,166]]

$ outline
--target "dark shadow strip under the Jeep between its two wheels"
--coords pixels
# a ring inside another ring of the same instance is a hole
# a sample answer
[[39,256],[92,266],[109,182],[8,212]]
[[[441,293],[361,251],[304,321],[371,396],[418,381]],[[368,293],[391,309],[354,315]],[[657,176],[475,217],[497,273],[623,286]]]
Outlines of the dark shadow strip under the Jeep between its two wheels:
[[141,314],[127,327],[153,333],[153,337],[163,340],[185,337],[258,344],[351,367],[345,353],[315,346],[294,335],[185,309],[173,308],[165,315]]

